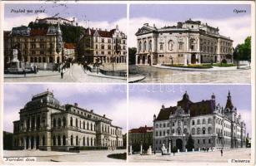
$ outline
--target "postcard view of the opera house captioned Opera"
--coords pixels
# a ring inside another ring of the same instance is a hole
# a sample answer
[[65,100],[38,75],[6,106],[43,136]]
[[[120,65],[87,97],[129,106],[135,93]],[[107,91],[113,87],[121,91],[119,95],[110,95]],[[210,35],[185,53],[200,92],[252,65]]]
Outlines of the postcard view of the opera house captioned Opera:
[[251,83],[248,4],[131,4],[130,83]]

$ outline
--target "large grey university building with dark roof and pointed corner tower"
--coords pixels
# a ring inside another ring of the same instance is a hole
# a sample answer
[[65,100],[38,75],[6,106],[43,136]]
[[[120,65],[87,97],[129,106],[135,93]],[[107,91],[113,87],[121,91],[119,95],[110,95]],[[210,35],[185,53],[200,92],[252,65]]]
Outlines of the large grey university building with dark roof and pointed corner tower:
[[210,100],[193,102],[187,92],[176,106],[160,110],[153,116],[153,149],[159,151],[163,144],[185,151],[188,136],[191,135],[194,149],[234,149],[245,147],[246,125],[236,107],[230,92],[225,107]]

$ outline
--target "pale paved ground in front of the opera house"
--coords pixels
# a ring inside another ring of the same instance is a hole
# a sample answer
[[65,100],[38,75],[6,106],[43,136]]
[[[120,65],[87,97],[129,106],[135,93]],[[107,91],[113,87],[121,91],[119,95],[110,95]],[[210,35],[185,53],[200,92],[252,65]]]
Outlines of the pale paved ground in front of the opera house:
[[129,76],[141,75],[141,83],[241,83],[251,82],[251,69],[221,71],[185,71],[153,66],[129,66]]

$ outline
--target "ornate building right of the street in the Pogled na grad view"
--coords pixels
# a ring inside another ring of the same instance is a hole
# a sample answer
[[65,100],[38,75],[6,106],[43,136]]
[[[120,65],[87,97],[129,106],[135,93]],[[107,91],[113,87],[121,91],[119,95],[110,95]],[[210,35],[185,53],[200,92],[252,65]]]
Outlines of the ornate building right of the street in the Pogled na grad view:
[[78,56],[88,63],[126,63],[127,36],[118,26],[110,31],[87,28],[78,43]]

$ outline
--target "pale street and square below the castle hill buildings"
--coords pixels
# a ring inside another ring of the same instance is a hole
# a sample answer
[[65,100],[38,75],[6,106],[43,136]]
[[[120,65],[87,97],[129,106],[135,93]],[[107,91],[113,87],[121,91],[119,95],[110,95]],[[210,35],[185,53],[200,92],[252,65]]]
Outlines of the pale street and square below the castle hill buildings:
[[73,64],[64,73],[63,79],[58,71],[38,71],[38,74],[4,75],[5,82],[114,82],[126,83],[125,79],[117,79],[111,76],[93,76],[83,71],[83,67]]

